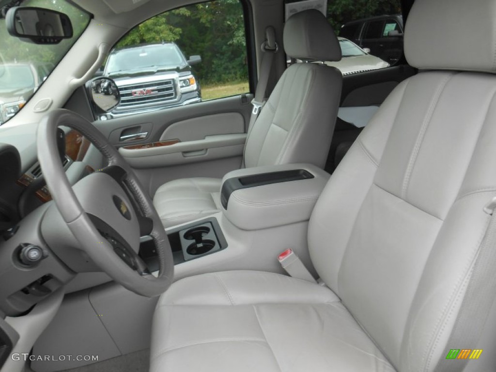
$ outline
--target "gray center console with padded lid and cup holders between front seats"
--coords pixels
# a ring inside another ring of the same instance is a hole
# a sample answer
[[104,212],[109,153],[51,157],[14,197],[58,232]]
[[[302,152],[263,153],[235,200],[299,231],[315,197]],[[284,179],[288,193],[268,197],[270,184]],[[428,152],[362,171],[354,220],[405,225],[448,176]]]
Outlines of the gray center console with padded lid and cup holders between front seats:
[[[243,268],[244,264],[246,268],[275,270],[272,261],[268,261],[268,268],[261,267],[264,255],[270,254],[269,248],[257,252],[260,245],[251,246],[250,252],[256,255],[247,257],[250,242],[265,236],[264,244],[276,251],[279,246],[305,250],[306,243],[293,247],[288,246],[288,241],[297,242],[306,237],[304,230],[311,211],[328,179],[329,174],[309,164],[229,172],[220,190],[221,213],[167,229],[176,277],[207,271],[205,267],[231,270]],[[151,271],[158,270],[151,239],[141,242],[139,254]],[[210,255],[215,257],[205,257]],[[205,258],[198,260],[201,257]],[[239,262],[234,257],[238,257]],[[182,265],[185,262],[188,262],[187,269]]]

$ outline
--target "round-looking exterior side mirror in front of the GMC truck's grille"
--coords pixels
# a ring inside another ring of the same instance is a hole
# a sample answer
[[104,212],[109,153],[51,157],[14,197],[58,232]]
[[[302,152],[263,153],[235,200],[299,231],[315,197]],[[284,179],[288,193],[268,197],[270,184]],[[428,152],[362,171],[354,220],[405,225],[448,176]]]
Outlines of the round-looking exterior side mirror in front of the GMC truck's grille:
[[105,114],[114,110],[121,103],[121,94],[114,80],[97,77],[86,83],[86,89],[94,112]]

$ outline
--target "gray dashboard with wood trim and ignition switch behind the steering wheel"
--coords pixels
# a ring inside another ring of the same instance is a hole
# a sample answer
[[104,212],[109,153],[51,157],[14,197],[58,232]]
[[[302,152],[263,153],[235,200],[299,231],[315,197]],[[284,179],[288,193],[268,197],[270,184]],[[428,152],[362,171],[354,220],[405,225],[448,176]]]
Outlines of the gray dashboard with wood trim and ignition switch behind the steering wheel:
[[[74,185],[95,172],[84,160],[94,147],[75,130],[67,128],[64,134],[62,164]],[[10,316],[29,310],[74,277],[74,268],[55,250],[76,252],[70,258],[83,262],[83,271],[98,271],[86,256],[79,257],[78,243],[51,202],[39,162],[21,169],[16,147],[0,143],[0,282],[8,283],[0,287],[0,310]]]

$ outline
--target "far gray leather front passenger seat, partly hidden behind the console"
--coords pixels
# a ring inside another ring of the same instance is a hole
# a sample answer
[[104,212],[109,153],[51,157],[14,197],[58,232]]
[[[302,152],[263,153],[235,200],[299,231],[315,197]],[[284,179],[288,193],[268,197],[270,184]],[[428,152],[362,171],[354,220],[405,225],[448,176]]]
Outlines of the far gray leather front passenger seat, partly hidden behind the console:
[[[341,59],[336,35],[316,10],[288,20],[284,49],[301,60]],[[248,133],[245,166],[311,163],[323,168],[341,84],[341,72],[334,67],[297,63],[286,69]],[[221,210],[220,187],[221,179],[175,180],[158,188],[153,203],[164,227],[170,227]]]

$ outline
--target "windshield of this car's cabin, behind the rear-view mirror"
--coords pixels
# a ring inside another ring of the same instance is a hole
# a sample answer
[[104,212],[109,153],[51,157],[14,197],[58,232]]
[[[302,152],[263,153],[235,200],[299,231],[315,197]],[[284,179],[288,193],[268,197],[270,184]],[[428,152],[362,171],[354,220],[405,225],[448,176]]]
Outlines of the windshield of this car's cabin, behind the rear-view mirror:
[[[0,14],[11,5],[0,0]],[[0,16],[0,124],[14,117],[36,92],[88,26],[90,15],[66,0],[25,0],[20,6],[38,6],[65,13],[73,27],[71,39],[55,45],[37,45],[10,36]]]

